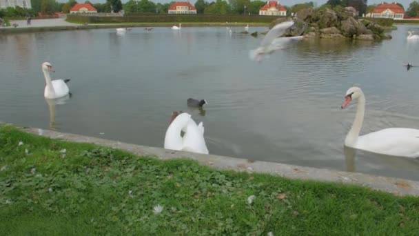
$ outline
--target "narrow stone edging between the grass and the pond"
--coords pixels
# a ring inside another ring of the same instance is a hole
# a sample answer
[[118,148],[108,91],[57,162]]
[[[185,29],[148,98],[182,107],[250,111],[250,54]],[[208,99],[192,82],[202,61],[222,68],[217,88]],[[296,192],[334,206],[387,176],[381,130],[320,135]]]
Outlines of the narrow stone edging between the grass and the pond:
[[[7,126],[12,124],[2,124]],[[192,159],[198,161],[200,165],[209,166],[219,170],[233,170],[248,173],[265,173],[289,179],[301,179],[311,181],[334,182],[340,184],[352,184],[364,186],[373,190],[381,190],[394,195],[413,195],[419,196],[419,181],[401,179],[396,177],[375,176],[364,173],[345,172],[326,168],[312,168],[306,166],[296,166],[290,164],[280,164],[269,161],[249,161],[238,157],[225,157],[220,155],[203,155],[177,150],[167,150],[159,147],[140,146],[136,144],[126,144],[110,139],[75,135],[53,130],[40,128],[28,128],[15,126],[23,132],[34,135],[41,135],[51,139],[61,139],[63,141],[73,141],[76,143],[97,144],[110,148],[118,148],[128,151],[134,155],[152,156],[157,159]]]

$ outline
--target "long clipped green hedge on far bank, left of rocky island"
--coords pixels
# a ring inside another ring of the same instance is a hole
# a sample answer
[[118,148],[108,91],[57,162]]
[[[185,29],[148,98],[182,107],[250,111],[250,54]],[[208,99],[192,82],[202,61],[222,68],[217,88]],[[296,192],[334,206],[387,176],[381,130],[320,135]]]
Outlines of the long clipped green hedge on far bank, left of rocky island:
[[240,14],[147,14],[125,17],[98,17],[68,14],[73,22],[88,23],[126,23],[126,22],[252,22],[271,23],[278,16],[240,15]]

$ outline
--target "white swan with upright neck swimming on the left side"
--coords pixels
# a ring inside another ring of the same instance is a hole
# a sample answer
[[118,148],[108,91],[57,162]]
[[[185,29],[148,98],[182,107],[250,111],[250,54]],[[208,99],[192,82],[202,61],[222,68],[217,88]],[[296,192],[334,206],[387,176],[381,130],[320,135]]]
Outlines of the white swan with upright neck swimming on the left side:
[[45,77],[45,90],[43,96],[48,99],[57,99],[70,94],[70,89],[67,86],[70,79],[55,79],[51,81],[50,71],[54,72],[49,62],[42,63],[42,72]]

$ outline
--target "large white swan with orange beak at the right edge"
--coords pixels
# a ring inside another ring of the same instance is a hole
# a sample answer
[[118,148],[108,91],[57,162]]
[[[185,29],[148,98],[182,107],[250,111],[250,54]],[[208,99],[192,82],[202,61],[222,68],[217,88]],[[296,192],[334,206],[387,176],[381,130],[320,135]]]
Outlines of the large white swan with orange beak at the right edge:
[[349,88],[341,108],[345,108],[354,99],[358,99],[358,108],[354,124],[345,139],[345,146],[384,155],[419,157],[419,130],[417,129],[386,128],[358,137],[365,112],[365,96],[362,90],[358,87]]

